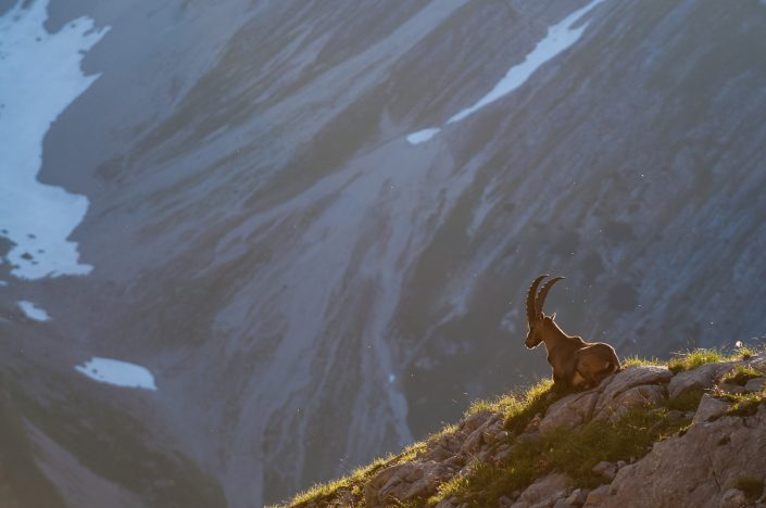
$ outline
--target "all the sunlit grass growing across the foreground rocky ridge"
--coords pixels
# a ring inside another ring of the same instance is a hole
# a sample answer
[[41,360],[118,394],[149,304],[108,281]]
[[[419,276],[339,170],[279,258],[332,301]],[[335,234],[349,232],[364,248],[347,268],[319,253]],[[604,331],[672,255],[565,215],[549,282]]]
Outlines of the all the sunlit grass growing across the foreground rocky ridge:
[[[756,351],[746,347],[739,348],[733,354],[717,350],[694,350],[679,354],[668,361],[631,357],[626,359],[625,365],[665,365],[674,372],[680,372],[711,361],[745,359],[755,353]],[[762,372],[751,370],[738,368],[723,381],[744,384],[748,379],[763,376]],[[515,441],[515,434],[522,432],[535,415],[544,412],[548,406],[561,398],[561,395],[549,395],[552,385],[551,380],[543,380],[525,392],[506,394],[494,401],[477,401],[472,404],[466,416],[484,409],[503,412],[505,429],[510,433],[506,443],[512,443]],[[766,391],[757,394],[717,395],[733,403],[729,412],[734,415],[752,414],[758,404],[766,402]],[[560,430],[542,437],[515,443],[511,455],[502,462],[477,461],[470,467],[468,474],[455,477],[442,484],[435,496],[403,506],[434,506],[440,499],[450,497],[456,497],[470,506],[487,506],[502,495],[523,490],[538,478],[554,471],[568,474],[580,486],[598,485],[602,479],[592,471],[593,466],[602,460],[638,459],[649,453],[653,443],[683,432],[690,419],[679,416],[679,410],[694,410],[701,397],[700,391],[669,401],[661,407],[635,410],[617,423],[592,421],[576,430]],[[315,485],[292,498],[286,506],[348,506],[350,503],[364,506],[363,486],[378,471],[412,460],[418,450],[425,449],[429,440],[454,430],[455,427],[450,426],[428,440],[407,447],[400,455],[377,459],[340,480]],[[500,442],[495,446],[502,444],[504,443]]]

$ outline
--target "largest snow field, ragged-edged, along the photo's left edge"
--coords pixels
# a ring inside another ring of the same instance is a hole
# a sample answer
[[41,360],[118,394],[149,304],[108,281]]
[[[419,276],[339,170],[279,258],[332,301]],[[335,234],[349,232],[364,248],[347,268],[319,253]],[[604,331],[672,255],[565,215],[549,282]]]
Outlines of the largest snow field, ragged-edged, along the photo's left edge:
[[80,17],[49,34],[48,0],[0,17],[0,236],[15,246],[8,262],[22,279],[87,275],[77,243],[67,238],[85,217],[88,200],[40,183],[42,140],[55,118],[98,75],[80,62],[108,28]]

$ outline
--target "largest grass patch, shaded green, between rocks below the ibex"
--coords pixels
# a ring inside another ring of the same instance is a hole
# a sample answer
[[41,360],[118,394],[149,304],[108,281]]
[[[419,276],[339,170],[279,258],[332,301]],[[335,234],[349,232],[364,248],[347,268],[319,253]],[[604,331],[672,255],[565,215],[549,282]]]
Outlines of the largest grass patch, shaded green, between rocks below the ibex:
[[578,430],[562,429],[517,442],[501,463],[477,462],[467,475],[444,483],[428,506],[450,497],[468,506],[490,506],[551,472],[566,473],[579,486],[595,486],[603,479],[592,471],[593,466],[642,457],[653,443],[678,433],[689,422],[668,418],[667,408],[635,410],[617,423],[593,421]]

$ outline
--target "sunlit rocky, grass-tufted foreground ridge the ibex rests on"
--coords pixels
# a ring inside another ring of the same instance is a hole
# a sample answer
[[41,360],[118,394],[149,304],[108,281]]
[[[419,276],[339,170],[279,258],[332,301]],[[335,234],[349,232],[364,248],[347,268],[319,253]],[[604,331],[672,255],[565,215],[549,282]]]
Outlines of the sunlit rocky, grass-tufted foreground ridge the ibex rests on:
[[[511,417],[507,408],[480,409],[413,448],[409,459],[291,506],[766,507],[766,353],[686,367],[693,368],[630,365],[585,392],[545,389]],[[530,484],[508,492],[495,485],[490,505],[487,493],[481,500],[470,494],[489,470],[524,468],[518,450],[527,443],[587,434],[595,424],[633,426],[637,415],[656,416],[639,418],[650,433],[669,430],[643,456],[599,461],[586,475],[536,463]]]

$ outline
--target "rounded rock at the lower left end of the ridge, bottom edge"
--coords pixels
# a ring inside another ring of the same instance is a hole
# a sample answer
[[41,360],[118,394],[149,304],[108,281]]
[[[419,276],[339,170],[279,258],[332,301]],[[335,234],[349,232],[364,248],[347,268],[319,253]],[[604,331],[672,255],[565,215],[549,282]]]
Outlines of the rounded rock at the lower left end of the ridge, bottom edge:
[[455,469],[434,460],[404,462],[384,469],[364,486],[367,506],[388,506],[391,499],[405,501],[434,494]]

